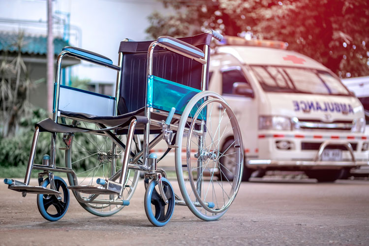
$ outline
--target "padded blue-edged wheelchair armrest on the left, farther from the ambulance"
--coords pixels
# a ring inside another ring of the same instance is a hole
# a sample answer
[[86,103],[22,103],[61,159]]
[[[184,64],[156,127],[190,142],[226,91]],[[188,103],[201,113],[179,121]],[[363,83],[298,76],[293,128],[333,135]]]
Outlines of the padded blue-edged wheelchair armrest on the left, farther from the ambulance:
[[81,60],[85,60],[88,62],[93,62],[99,65],[108,66],[108,67],[117,69],[117,67],[113,65],[113,61],[111,59],[104,57],[100,54],[97,54],[95,52],[92,52],[92,51],[84,50],[84,49],[77,48],[77,47],[71,47],[71,46],[64,47],[62,51],[67,51],[69,53],[68,55],[71,55]]

